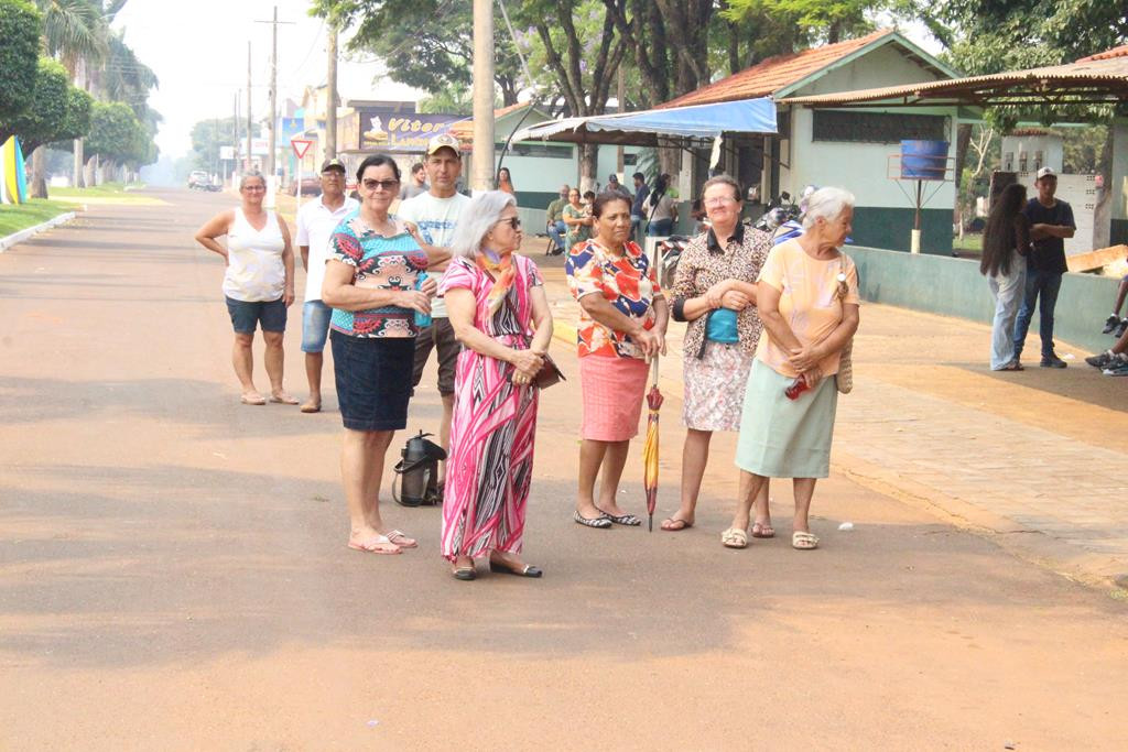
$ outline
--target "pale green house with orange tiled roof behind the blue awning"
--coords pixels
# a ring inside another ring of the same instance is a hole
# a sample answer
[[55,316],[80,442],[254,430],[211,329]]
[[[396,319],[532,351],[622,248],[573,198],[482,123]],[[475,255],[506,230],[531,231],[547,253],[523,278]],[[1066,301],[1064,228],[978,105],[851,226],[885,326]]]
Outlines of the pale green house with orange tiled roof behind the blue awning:
[[[776,100],[778,133],[735,139],[722,168],[741,184],[758,186],[764,200],[804,186],[836,185],[857,197],[854,239],[860,245],[908,250],[915,221],[915,185],[899,175],[902,139],[946,141],[954,158],[957,107],[819,107],[788,98],[955,78],[957,71],[891,29],[837,44],[768,57],[751,68],[703,86],[660,107],[679,107],[755,97]],[[948,174],[951,180],[951,171]],[[955,186],[933,184],[922,211],[925,253],[952,250]]]

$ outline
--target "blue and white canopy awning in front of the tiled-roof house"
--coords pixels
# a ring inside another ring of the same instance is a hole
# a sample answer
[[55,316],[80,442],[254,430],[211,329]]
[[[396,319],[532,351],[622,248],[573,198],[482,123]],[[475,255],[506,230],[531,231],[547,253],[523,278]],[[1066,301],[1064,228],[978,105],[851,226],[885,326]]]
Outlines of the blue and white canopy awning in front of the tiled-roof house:
[[636,147],[671,145],[715,139],[723,133],[775,133],[776,107],[768,97],[713,105],[644,109],[637,113],[565,117],[537,123],[513,141],[566,141]]

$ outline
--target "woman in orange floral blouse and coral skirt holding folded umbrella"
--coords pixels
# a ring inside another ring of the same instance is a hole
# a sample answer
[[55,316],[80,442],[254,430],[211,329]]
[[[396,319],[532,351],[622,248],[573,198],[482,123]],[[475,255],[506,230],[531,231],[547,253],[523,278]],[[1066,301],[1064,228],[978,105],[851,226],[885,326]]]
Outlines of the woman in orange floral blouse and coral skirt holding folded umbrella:
[[[605,191],[592,202],[596,237],[572,249],[564,271],[580,301],[576,328],[583,417],[579,494],[572,519],[588,528],[637,525],[618,505],[619,478],[638,433],[650,360],[666,351],[669,309],[650,259],[631,237],[631,200]],[[603,471],[596,498],[596,477]]]

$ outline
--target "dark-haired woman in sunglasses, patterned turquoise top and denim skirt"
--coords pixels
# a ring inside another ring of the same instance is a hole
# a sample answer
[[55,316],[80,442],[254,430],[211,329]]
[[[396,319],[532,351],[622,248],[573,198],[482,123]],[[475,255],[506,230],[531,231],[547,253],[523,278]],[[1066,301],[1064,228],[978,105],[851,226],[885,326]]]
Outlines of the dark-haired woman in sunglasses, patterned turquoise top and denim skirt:
[[356,170],[360,209],[333,233],[321,300],[333,308],[337,402],[345,435],[341,458],[349,505],[349,548],[399,554],[416,542],[380,516],[380,478],[393,434],[407,425],[415,354],[415,313],[431,312],[433,280],[406,224],[388,215],[399,168],[373,154]]

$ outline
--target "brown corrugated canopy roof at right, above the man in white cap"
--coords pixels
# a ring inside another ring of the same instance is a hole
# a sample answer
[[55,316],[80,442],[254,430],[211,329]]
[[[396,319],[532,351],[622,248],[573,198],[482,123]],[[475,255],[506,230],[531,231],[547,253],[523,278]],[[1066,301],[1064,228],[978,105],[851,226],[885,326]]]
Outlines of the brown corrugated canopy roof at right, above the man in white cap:
[[1116,104],[1128,100],[1128,54],[1116,53],[1110,51],[1064,65],[790,97],[779,103],[808,107]]

